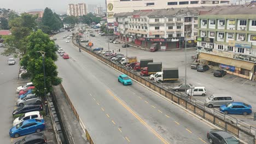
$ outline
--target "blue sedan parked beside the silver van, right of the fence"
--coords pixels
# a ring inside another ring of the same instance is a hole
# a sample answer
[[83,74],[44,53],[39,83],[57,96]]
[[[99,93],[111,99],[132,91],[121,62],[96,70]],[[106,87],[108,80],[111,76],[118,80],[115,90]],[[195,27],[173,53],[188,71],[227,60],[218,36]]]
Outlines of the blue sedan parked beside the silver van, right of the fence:
[[252,106],[242,102],[232,102],[220,106],[219,110],[225,114],[242,114],[246,116],[252,113]]

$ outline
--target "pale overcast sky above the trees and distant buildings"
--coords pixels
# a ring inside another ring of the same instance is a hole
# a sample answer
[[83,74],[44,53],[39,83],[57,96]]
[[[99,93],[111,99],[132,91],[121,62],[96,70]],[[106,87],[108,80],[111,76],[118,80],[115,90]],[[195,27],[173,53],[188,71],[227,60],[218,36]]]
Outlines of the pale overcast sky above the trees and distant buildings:
[[46,7],[56,13],[66,13],[69,3],[97,4],[105,7],[105,0],[0,0],[0,8],[24,12],[31,9],[45,9]]

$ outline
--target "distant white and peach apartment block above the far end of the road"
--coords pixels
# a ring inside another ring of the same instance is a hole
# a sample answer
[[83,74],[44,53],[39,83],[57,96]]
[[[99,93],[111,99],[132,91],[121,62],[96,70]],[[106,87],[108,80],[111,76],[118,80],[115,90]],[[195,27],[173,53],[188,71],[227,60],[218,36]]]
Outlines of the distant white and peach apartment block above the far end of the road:
[[83,16],[86,15],[86,4],[85,3],[78,3],[78,4],[68,4],[68,15],[73,16]]

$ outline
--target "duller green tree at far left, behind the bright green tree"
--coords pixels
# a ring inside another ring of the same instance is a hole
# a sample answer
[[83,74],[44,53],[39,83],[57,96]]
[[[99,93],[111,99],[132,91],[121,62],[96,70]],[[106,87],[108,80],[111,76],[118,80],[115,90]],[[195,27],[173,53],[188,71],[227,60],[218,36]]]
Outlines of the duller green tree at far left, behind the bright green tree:
[[27,45],[26,37],[30,35],[33,29],[36,29],[36,18],[36,16],[24,13],[20,17],[9,21],[11,35],[4,37],[4,43],[8,49],[5,49],[1,53],[2,55],[25,55]]

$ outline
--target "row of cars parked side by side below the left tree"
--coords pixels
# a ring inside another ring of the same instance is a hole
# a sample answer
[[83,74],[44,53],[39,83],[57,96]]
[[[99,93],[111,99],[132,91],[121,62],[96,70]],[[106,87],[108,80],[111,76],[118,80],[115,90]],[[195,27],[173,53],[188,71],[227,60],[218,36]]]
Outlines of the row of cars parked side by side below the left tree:
[[45,135],[40,133],[45,129],[45,121],[40,113],[43,111],[42,99],[33,92],[34,88],[32,82],[16,88],[18,99],[15,105],[18,108],[12,113],[15,119],[9,135],[14,138],[27,135],[16,144],[47,143]]

